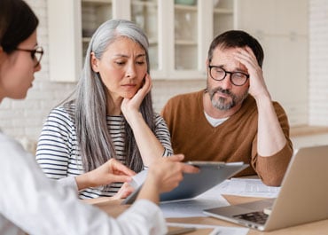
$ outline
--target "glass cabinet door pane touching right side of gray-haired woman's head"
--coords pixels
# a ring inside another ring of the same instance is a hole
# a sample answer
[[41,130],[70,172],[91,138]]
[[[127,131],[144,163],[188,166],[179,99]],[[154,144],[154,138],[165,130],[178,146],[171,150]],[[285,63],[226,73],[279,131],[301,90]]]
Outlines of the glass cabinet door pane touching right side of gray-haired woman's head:
[[148,51],[152,70],[159,69],[158,15],[157,0],[131,1],[131,20],[144,29],[149,40]]

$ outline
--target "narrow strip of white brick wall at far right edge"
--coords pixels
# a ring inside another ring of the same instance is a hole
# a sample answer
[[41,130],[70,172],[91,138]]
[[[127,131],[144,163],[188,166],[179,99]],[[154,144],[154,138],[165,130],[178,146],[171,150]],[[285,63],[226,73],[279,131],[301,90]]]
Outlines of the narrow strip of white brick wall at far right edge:
[[328,4],[309,1],[308,122],[328,125]]

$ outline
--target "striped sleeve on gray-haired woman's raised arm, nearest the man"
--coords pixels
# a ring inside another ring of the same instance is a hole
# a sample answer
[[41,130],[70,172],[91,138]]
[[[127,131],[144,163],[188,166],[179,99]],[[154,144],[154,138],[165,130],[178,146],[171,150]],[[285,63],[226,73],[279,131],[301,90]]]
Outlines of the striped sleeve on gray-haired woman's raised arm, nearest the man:
[[155,136],[159,139],[160,144],[164,147],[163,157],[168,157],[173,154],[171,137],[168,126],[160,114],[155,117]]

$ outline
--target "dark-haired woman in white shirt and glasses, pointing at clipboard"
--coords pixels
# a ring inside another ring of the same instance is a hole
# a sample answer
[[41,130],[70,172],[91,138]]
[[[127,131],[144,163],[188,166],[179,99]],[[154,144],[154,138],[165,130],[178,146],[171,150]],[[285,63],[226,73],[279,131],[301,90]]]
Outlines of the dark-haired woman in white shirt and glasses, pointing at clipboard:
[[[38,20],[21,0],[0,1],[0,102],[25,98],[35,72],[41,69],[37,45]],[[164,234],[166,223],[159,193],[172,190],[184,172],[196,168],[181,162],[183,155],[157,158],[150,166],[136,203],[117,220],[76,198],[74,184],[63,187],[40,170],[33,157],[0,131],[0,234]],[[156,166],[160,165],[160,168]],[[107,183],[129,182],[133,171],[111,159],[94,170]]]

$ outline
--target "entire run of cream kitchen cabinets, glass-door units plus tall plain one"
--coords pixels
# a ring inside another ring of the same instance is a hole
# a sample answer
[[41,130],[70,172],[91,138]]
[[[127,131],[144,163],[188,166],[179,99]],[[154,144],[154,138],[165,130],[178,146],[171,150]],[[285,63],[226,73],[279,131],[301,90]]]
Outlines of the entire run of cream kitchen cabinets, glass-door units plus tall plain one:
[[48,0],[48,11],[51,81],[79,79],[90,35],[108,19],[144,28],[152,78],[162,80],[206,78],[214,36],[243,29],[262,43],[272,98],[291,125],[308,122],[308,0]]

